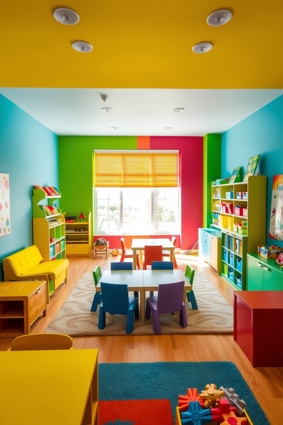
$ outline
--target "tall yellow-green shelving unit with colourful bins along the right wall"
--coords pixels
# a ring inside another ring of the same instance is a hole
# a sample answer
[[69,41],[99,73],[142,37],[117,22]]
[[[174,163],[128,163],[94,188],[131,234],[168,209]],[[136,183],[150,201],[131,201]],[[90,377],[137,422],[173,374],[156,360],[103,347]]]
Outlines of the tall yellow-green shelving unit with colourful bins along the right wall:
[[[220,198],[214,198],[216,187],[220,187]],[[233,198],[226,198],[226,192],[233,189]],[[247,199],[236,199],[237,192],[247,192]],[[224,213],[213,210],[213,202],[231,202],[233,203],[233,214]],[[247,207],[247,217],[234,214],[235,205],[243,205]],[[211,224],[213,229],[219,229],[222,232],[222,249],[221,249],[221,276],[231,283],[236,289],[247,289],[247,253],[257,252],[258,245],[266,244],[266,176],[249,176],[247,182],[211,185],[211,211],[218,212],[221,217],[230,218],[232,224],[241,221],[247,221],[247,234],[235,232],[228,227],[221,227],[221,225]],[[225,218],[221,219],[225,221]],[[225,235],[228,235],[233,240],[233,246],[224,246]],[[235,252],[235,240],[241,241],[241,252]],[[234,254],[233,263],[225,261],[224,250]],[[241,270],[237,268],[237,260],[241,261]],[[230,278],[229,278],[229,270]],[[227,274],[226,275],[226,271]],[[237,280],[238,278],[238,280]],[[241,279],[241,283],[239,282]]]

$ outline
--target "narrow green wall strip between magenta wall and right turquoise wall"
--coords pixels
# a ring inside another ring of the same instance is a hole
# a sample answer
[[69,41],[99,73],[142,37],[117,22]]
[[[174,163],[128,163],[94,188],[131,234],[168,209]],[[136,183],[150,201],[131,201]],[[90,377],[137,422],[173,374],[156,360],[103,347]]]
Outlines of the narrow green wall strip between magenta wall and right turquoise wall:
[[211,224],[211,182],[221,178],[221,134],[203,138],[203,227]]

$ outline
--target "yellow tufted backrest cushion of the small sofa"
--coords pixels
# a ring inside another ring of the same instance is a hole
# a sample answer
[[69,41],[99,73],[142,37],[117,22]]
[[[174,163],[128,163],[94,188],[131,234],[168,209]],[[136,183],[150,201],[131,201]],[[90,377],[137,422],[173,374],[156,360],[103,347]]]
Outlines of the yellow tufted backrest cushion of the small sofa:
[[24,275],[24,273],[28,273],[31,269],[38,266],[43,258],[37,246],[32,245],[22,249],[22,251],[9,255],[6,259],[11,263],[17,275]]

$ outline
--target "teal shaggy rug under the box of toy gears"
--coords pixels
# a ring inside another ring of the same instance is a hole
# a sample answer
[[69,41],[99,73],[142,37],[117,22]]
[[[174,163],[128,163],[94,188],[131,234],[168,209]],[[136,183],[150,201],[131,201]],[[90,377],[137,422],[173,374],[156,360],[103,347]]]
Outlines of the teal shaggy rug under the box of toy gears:
[[197,388],[200,393],[212,383],[217,388],[232,387],[247,403],[253,425],[269,425],[247,382],[231,362],[100,363],[98,383],[102,401],[168,399],[174,423],[179,394],[186,394],[187,388]]

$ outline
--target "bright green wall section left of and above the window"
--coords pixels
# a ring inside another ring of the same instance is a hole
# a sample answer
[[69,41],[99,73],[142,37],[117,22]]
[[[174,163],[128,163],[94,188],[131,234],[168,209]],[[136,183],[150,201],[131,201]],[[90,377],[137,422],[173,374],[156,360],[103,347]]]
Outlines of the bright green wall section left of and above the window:
[[77,217],[91,211],[92,224],[93,149],[137,149],[137,136],[58,136],[60,208]]

